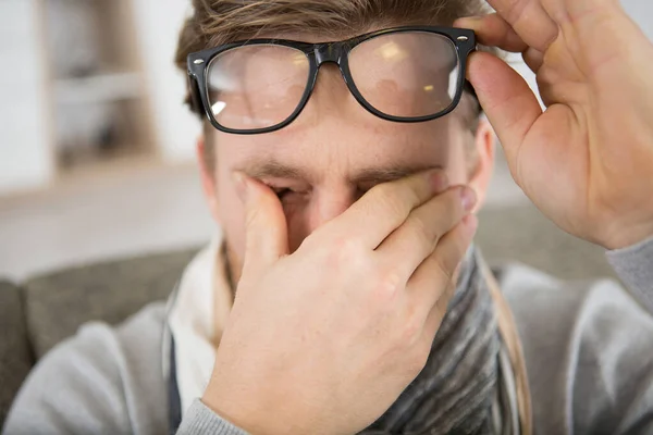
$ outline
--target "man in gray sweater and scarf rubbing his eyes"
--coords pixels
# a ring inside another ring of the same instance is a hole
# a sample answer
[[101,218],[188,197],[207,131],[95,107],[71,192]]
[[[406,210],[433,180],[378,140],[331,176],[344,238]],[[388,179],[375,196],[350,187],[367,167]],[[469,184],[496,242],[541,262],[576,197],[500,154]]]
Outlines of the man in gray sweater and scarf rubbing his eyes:
[[224,236],[168,311],[53,350],[5,432],[653,433],[651,314],[522,268],[506,304],[470,247],[493,133],[463,76],[519,186],[653,309],[653,47],[614,0],[490,3],[196,0]]

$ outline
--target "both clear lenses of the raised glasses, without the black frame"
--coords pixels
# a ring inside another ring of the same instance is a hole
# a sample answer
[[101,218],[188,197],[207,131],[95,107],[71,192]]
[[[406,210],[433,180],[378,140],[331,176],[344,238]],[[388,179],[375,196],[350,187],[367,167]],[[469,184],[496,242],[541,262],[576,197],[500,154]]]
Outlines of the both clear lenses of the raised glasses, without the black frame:
[[[435,115],[455,99],[460,65],[456,47],[428,32],[393,33],[366,40],[349,53],[354,86],[386,115]],[[232,129],[258,129],[287,120],[309,83],[308,57],[294,48],[252,45],[227,50],[208,66],[209,104]]]

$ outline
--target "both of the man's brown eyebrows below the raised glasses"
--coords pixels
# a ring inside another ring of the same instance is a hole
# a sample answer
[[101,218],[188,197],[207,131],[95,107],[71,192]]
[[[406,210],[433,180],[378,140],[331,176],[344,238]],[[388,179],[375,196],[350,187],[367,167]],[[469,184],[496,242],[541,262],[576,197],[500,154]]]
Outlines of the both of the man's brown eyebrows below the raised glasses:
[[[350,182],[355,184],[381,184],[394,182],[419,172],[442,170],[442,165],[395,165],[391,167],[369,167],[356,173]],[[250,161],[237,169],[252,178],[300,178],[310,181],[311,176],[306,170],[293,165],[282,164],[275,160]]]

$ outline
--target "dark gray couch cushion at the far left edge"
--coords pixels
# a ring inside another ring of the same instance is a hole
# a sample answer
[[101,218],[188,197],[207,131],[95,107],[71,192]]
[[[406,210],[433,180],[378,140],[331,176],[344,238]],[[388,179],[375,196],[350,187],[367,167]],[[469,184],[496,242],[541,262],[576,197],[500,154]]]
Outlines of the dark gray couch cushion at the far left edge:
[[0,282],[0,425],[34,359],[27,340],[19,287]]

